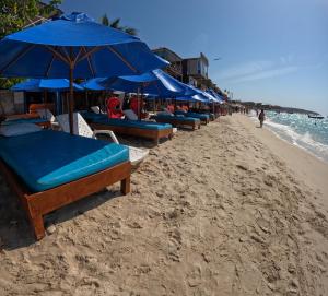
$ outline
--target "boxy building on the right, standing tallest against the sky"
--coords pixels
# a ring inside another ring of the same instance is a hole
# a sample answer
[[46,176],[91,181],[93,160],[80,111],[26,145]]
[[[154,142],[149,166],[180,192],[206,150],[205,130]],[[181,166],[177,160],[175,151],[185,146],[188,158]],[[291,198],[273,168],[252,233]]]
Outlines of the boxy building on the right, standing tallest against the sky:
[[213,84],[209,80],[209,60],[202,52],[197,58],[183,60],[183,81],[201,90]]

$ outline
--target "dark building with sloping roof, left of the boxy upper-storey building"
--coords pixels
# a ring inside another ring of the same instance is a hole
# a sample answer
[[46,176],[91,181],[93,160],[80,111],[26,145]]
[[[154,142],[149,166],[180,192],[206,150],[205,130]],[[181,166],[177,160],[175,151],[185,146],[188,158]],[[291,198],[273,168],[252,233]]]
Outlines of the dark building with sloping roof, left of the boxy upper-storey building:
[[169,75],[183,81],[183,58],[167,47],[155,48],[152,51],[171,63],[165,69]]

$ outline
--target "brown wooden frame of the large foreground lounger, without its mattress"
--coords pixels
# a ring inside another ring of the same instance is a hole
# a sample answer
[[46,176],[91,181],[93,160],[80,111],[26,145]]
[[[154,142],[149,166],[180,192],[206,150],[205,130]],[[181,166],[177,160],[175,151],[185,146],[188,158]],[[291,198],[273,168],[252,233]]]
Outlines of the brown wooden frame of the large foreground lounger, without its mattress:
[[125,162],[105,170],[83,177],[46,191],[32,193],[16,174],[0,159],[2,171],[12,190],[19,196],[26,211],[36,239],[45,236],[43,216],[66,204],[101,191],[109,185],[120,181],[122,194],[130,192],[131,163]]

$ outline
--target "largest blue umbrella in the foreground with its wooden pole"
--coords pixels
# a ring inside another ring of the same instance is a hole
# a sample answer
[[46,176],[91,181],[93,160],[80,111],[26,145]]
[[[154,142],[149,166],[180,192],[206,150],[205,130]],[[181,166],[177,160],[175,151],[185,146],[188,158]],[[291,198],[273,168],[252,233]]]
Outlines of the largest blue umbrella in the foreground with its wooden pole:
[[140,74],[165,63],[139,38],[72,13],[11,34],[0,42],[0,75],[69,78],[73,133],[73,79]]

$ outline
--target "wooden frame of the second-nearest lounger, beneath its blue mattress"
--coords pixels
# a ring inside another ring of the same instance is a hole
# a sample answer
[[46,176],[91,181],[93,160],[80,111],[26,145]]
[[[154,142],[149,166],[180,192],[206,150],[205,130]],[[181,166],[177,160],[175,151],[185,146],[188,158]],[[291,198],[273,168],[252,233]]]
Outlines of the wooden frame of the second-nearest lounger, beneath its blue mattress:
[[121,127],[121,126],[110,126],[109,123],[97,123],[93,121],[87,122],[94,130],[112,130],[118,134],[127,134],[133,137],[140,137],[145,139],[151,139],[157,145],[160,139],[168,138],[169,140],[173,137],[173,129],[162,129],[162,130],[150,130],[150,129],[140,129],[137,127]]

